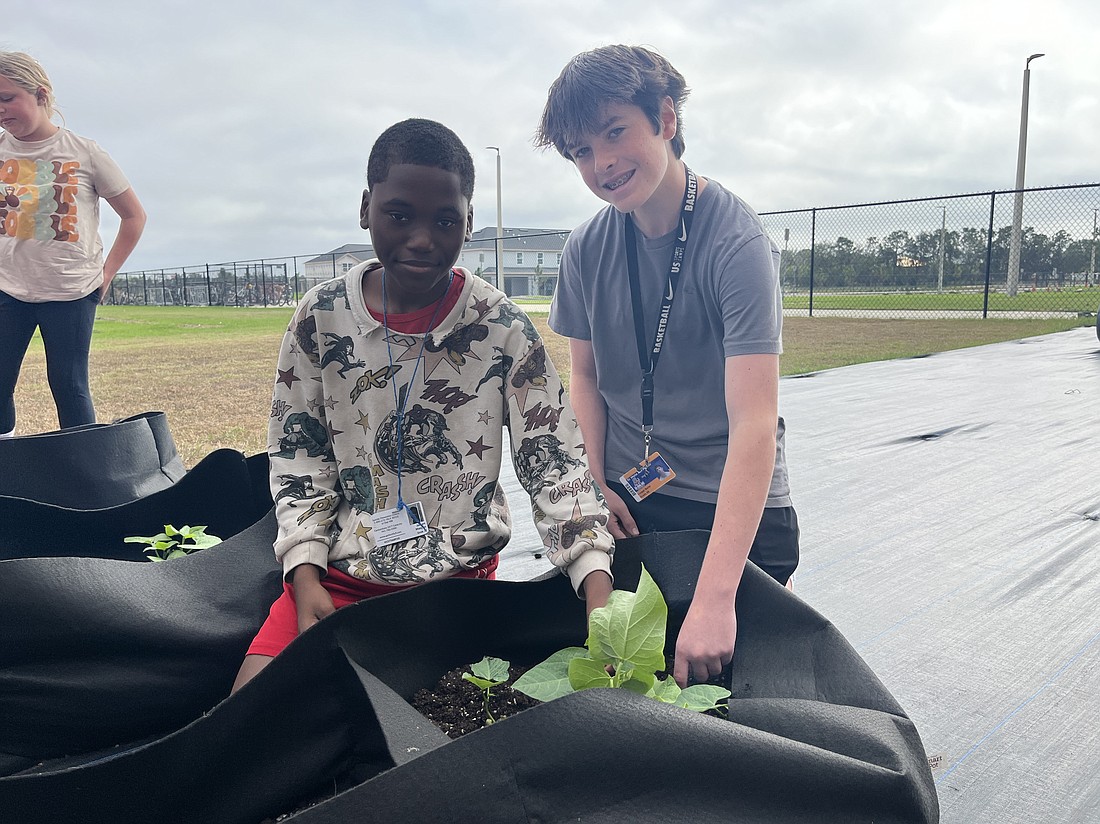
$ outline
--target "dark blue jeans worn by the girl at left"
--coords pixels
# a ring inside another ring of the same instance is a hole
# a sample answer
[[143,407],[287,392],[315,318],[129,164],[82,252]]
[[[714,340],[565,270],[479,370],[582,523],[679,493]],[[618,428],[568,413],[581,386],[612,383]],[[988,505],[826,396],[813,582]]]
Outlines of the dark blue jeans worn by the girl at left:
[[0,433],[15,428],[15,382],[34,330],[46,349],[46,377],[62,428],[96,422],[88,351],[99,297],[29,304],[0,292]]

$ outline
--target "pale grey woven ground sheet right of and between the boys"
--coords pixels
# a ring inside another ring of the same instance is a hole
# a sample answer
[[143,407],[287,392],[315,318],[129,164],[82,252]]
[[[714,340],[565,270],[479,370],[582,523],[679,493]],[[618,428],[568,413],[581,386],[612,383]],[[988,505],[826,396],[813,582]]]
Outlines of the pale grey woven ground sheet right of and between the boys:
[[[916,723],[944,824],[1100,822],[1094,330],[788,377],[780,394],[795,593]],[[528,578],[548,567],[518,484],[509,498],[502,576]]]

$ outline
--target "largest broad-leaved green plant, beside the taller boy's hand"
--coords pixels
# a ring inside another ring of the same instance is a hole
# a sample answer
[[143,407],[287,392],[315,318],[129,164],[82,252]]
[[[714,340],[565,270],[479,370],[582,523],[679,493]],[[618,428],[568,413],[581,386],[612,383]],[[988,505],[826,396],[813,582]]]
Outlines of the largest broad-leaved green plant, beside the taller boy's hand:
[[553,701],[579,690],[609,686],[704,713],[729,697],[729,690],[694,684],[681,690],[664,669],[669,608],[645,567],[637,592],[615,590],[607,605],[593,609],[584,647],[566,647],[532,667],[513,689],[537,701]]

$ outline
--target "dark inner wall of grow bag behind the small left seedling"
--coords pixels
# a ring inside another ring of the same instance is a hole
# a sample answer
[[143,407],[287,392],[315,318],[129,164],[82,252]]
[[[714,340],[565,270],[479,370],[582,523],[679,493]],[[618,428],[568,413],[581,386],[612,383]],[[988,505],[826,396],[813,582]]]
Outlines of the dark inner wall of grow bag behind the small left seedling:
[[157,535],[165,524],[205,525],[208,534],[224,539],[272,507],[266,475],[266,454],[245,458],[219,449],[173,485],[114,506],[74,508],[0,497],[0,559],[68,556],[144,562],[144,545],[124,539]]

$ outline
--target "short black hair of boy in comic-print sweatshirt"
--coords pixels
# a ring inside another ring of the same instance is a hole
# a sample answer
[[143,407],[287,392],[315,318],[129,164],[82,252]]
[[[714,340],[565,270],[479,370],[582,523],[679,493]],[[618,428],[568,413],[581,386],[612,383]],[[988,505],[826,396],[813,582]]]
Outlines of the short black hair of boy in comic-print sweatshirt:
[[474,196],[474,161],[454,132],[435,120],[410,118],[386,129],[371,147],[366,161],[366,187],[389,176],[389,167],[411,163],[435,166],[459,176],[466,200]]

